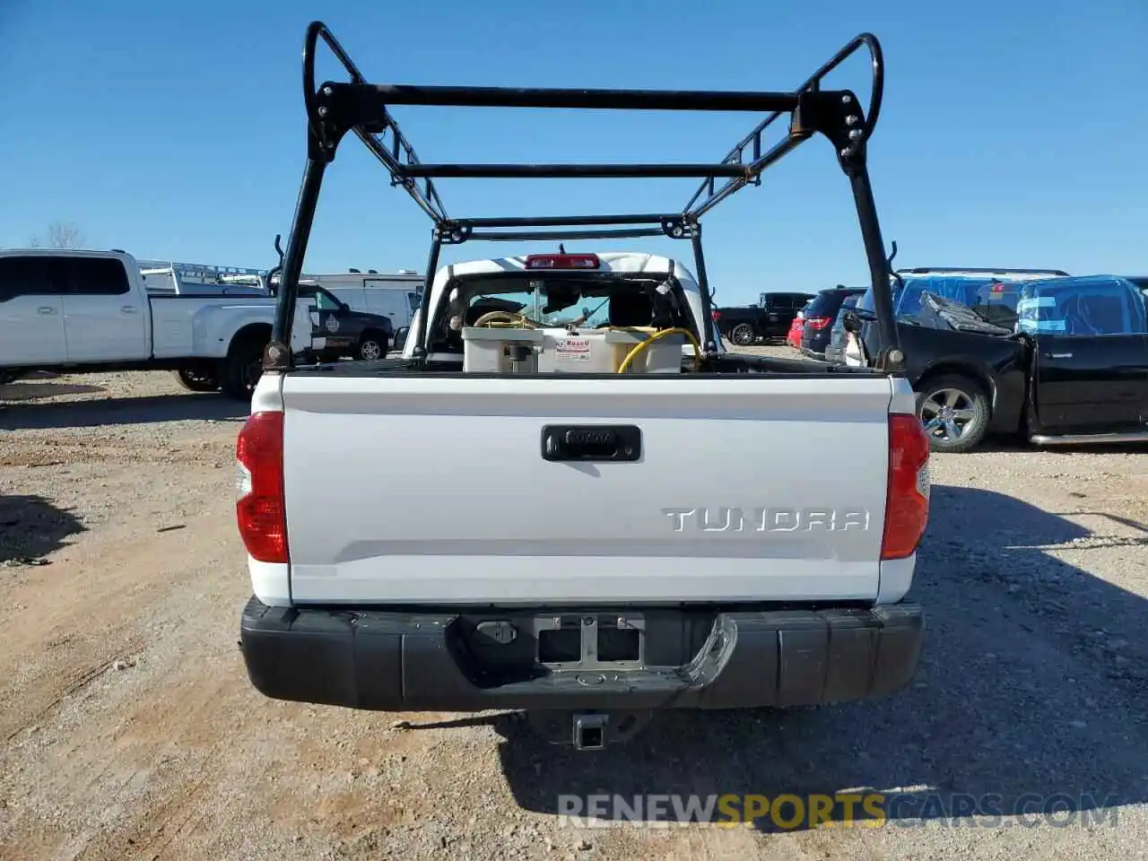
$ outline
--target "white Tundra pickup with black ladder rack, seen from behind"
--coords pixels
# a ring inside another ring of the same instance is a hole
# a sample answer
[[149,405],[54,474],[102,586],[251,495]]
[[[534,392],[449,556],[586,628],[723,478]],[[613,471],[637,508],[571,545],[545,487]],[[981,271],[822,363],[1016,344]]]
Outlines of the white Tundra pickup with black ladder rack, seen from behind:
[[[316,86],[320,38],[350,83]],[[819,86],[862,45],[876,70],[868,121],[852,93]],[[521,708],[546,719],[552,740],[588,750],[659,709],[816,705],[905,685],[924,630],[906,595],[929,517],[929,442],[889,289],[875,301],[891,340],[874,367],[726,351],[699,222],[821,132],[850,177],[872,282],[887,285],[864,166],[881,69],[863,34],[794,93],[377,86],[312,24],[309,160],[272,349],[236,447],[253,591],[240,642],[256,689],[364,709]],[[775,114],[720,163],[428,165],[395,103]],[[763,147],[785,111],[789,134]],[[435,219],[420,309],[402,357],[307,366],[279,349],[272,360],[348,130]],[[429,181],[691,174],[706,179],[681,212],[620,216],[450,219]],[[468,240],[651,234],[685,240],[692,271],[561,246],[437,263],[443,245]]]

